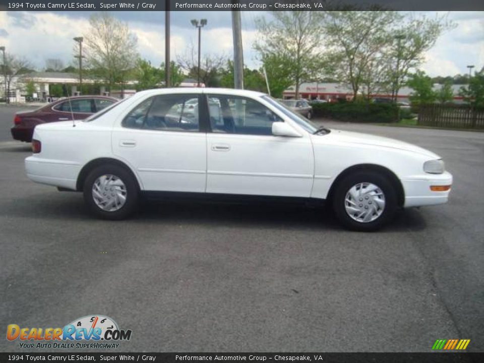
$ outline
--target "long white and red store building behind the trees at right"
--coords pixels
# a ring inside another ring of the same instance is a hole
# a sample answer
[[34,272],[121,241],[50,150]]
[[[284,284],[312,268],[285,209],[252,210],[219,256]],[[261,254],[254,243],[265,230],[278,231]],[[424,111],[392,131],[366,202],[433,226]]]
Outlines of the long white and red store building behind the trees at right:
[[[434,90],[439,90],[442,87],[440,84],[434,85]],[[452,91],[454,93],[454,102],[463,102],[462,97],[459,96],[459,90],[461,87],[467,87],[467,85],[452,85]],[[413,92],[410,87],[402,87],[398,91],[399,102],[410,102],[409,96]],[[360,93],[360,92],[358,92]],[[291,86],[282,93],[282,98],[290,99],[295,96],[295,86]],[[299,97],[308,100],[322,99],[328,102],[335,102],[339,99],[351,100],[353,98],[353,91],[351,87],[343,85],[341,83],[302,83],[299,86]],[[392,97],[391,94],[386,92],[378,92],[371,95],[371,98],[388,98]]]

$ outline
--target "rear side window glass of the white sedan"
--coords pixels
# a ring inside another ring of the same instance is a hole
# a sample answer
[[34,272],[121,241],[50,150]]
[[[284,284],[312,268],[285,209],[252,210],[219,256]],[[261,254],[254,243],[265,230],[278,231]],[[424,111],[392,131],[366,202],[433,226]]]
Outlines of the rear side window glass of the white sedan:
[[160,95],[136,106],[123,120],[123,126],[161,131],[198,131],[198,95]]

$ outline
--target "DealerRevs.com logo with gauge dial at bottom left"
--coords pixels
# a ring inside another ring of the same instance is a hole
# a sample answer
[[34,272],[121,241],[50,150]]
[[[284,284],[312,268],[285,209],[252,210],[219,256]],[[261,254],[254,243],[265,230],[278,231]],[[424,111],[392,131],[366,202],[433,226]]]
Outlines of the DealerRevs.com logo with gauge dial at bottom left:
[[119,341],[130,340],[131,330],[119,329],[116,322],[103,315],[89,315],[74,320],[64,328],[21,328],[7,326],[7,339],[19,340],[20,348],[118,348]]

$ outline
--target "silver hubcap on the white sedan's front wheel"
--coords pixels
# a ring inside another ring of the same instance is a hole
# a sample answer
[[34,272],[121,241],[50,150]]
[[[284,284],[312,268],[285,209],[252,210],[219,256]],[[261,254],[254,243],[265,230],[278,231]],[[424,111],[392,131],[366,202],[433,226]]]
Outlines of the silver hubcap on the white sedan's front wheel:
[[360,223],[372,222],[385,209],[385,195],[375,184],[358,183],[346,193],[344,207],[353,220]]

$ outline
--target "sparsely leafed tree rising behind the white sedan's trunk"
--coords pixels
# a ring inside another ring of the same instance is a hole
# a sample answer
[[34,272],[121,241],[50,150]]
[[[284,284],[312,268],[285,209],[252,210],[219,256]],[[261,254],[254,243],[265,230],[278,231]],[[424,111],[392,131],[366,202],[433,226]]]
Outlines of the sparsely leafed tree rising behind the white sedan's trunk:
[[87,65],[94,75],[107,82],[109,89],[120,84],[123,93],[124,84],[139,58],[137,38],[127,23],[107,13],[92,15],[89,24],[89,33],[84,37]]

